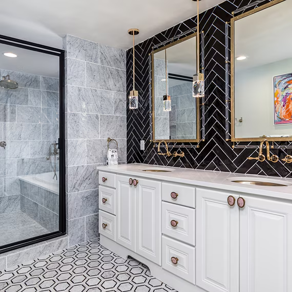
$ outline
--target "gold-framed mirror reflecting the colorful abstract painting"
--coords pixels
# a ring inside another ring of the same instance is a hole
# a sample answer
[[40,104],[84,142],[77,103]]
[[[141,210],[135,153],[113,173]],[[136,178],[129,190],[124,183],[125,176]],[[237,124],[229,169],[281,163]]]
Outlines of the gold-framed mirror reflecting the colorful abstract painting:
[[232,141],[292,140],[292,2],[231,19]]

